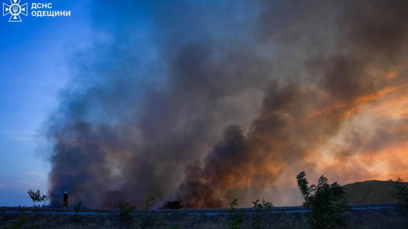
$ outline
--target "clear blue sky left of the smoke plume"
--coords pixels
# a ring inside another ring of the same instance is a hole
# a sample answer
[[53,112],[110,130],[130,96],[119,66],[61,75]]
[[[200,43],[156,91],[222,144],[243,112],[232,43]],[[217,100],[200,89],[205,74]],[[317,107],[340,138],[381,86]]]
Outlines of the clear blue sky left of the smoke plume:
[[47,192],[42,123],[58,105],[70,56],[91,43],[89,1],[48,2],[71,16],[37,18],[29,9],[22,22],[0,20],[0,206],[30,205],[30,188]]

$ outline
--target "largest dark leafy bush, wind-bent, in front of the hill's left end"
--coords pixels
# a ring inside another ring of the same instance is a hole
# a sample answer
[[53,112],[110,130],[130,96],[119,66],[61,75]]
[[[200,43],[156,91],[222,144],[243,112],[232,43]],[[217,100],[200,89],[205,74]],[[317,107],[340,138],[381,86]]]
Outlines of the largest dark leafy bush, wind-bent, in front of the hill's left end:
[[308,210],[306,217],[312,229],[332,229],[344,226],[343,212],[350,209],[344,197],[346,191],[337,182],[329,185],[325,176],[319,178],[317,185],[308,186],[305,172],[296,176],[297,185],[304,198],[303,206]]

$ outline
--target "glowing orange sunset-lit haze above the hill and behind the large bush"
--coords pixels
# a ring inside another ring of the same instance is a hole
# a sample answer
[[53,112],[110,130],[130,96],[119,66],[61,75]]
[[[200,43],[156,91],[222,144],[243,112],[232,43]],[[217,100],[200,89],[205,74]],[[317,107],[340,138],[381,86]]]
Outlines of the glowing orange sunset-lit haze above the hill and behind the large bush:
[[[340,117],[336,121],[341,122],[336,136],[310,150],[303,159],[301,164],[314,165],[313,170],[306,171],[310,183],[317,183],[322,174],[329,182],[337,181],[341,185],[369,180],[386,181],[397,176],[408,180],[408,83],[396,71],[383,76],[386,80],[395,80],[388,82],[393,85],[384,84],[388,86],[349,102],[335,103],[312,112],[302,120],[307,122],[323,114],[336,113],[336,117]],[[359,143],[345,140],[350,132],[361,136]],[[378,132],[382,135],[376,134]],[[270,168],[274,169],[277,168]],[[299,172],[286,170],[282,177],[289,180],[275,182],[275,192],[282,194],[279,198],[269,196],[275,205],[302,204],[294,181]]]

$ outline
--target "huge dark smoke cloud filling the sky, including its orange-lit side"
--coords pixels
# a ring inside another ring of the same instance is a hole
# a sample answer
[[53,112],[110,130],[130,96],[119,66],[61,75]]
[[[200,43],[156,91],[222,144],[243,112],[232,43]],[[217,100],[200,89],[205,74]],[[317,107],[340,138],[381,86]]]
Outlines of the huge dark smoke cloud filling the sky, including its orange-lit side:
[[[408,2],[95,1],[39,127],[86,207],[301,205],[295,177],[407,177]],[[80,24],[78,26],[81,26]]]

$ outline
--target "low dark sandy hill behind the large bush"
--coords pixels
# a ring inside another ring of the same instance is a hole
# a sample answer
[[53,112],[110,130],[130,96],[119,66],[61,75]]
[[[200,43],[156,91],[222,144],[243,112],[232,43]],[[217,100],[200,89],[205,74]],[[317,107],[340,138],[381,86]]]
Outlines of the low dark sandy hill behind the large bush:
[[[349,204],[360,203],[396,203],[390,191],[394,188],[390,181],[363,181],[344,185],[347,189],[346,198]],[[403,182],[402,185],[408,185]]]

